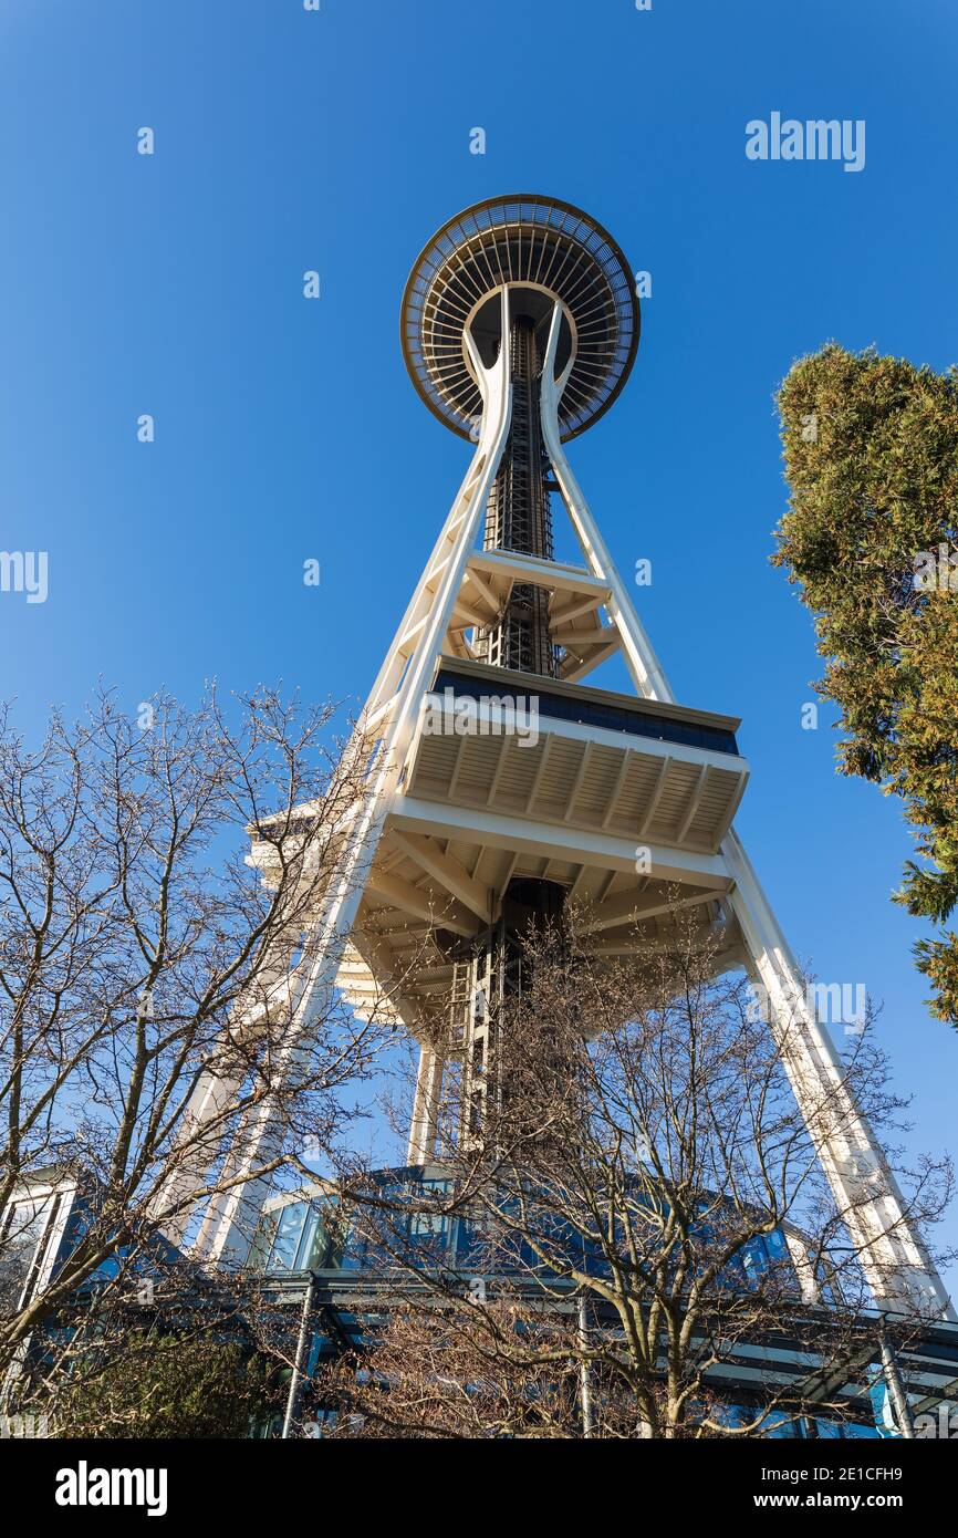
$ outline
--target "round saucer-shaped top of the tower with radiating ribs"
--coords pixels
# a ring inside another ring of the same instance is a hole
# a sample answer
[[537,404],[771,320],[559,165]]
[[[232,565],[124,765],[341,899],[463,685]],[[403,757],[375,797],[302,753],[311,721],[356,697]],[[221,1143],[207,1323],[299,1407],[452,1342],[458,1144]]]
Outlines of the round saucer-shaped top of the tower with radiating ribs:
[[[431,411],[460,437],[481,414],[466,365],[466,325],[481,329],[492,295],[520,285],[538,301],[564,306],[572,372],[560,401],[563,440],[584,432],[623,388],[638,346],[638,300],[629,265],[612,235],[558,198],[515,194],[464,209],[432,237],[403,294],[406,368]],[[521,305],[523,300],[520,298]],[[543,323],[544,325],[544,323]]]

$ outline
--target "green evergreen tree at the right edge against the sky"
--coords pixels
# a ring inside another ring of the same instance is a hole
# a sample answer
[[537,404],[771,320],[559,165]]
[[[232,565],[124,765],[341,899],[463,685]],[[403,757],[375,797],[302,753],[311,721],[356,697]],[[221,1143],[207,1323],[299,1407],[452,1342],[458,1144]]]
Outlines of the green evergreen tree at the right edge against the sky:
[[840,772],[901,797],[920,863],[895,901],[932,1012],[958,1026],[958,374],[829,343],[778,394],[789,512],[773,561],[815,617]]

